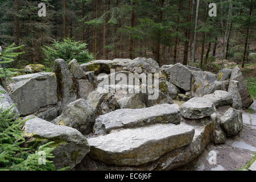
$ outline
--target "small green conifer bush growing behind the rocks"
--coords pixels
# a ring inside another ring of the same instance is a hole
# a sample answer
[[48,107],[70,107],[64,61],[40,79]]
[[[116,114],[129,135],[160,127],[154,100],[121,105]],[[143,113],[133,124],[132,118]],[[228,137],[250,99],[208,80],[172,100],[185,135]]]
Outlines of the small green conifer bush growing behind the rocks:
[[76,59],[80,64],[92,61],[94,56],[89,53],[86,43],[76,42],[70,38],[64,39],[64,42],[54,41],[50,47],[44,46],[43,52],[47,59],[46,62],[52,66],[56,59],[64,59],[68,64],[72,59]]

